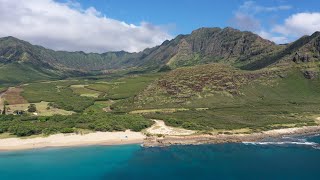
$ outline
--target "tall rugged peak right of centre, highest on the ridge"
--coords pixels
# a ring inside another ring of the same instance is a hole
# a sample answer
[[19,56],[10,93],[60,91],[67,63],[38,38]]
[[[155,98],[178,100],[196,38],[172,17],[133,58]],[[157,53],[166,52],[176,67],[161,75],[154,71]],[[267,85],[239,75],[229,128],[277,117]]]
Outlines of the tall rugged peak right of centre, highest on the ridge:
[[249,62],[278,48],[273,42],[251,32],[232,28],[200,28],[190,35],[179,35],[152,49],[143,61],[172,68],[224,62]]

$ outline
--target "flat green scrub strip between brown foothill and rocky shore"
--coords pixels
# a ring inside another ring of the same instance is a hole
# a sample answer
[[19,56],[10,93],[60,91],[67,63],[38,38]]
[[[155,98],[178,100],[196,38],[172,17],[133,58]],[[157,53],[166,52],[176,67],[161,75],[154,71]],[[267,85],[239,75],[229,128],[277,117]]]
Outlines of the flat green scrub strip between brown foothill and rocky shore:
[[[236,130],[250,128],[252,130],[270,130],[286,125],[315,125],[310,115],[320,113],[314,105],[303,107],[244,106],[224,107],[209,110],[189,110],[174,113],[150,113],[146,118],[162,119],[169,126],[182,127],[190,130]],[[312,108],[312,110],[308,109]],[[308,109],[308,112],[304,110]]]

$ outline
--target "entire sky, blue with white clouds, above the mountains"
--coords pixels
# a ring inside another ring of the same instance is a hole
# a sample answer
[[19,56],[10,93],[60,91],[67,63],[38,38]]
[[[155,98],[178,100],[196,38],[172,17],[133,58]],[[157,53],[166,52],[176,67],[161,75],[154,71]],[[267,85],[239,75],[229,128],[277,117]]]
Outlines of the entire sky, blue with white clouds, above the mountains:
[[319,0],[0,0],[0,37],[54,50],[138,52],[201,27],[277,44],[320,31]]

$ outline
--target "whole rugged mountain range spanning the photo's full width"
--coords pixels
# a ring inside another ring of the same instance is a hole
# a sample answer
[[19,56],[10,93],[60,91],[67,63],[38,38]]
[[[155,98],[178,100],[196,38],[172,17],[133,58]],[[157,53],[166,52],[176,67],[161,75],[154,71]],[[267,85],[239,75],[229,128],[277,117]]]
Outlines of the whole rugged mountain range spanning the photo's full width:
[[0,38],[0,82],[27,82],[86,75],[92,71],[175,69],[224,63],[247,70],[277,63],[319,61],[320,33],[288,45],[233,28],[200,28],[141,52],[98,53],[54,51],[14,37]]

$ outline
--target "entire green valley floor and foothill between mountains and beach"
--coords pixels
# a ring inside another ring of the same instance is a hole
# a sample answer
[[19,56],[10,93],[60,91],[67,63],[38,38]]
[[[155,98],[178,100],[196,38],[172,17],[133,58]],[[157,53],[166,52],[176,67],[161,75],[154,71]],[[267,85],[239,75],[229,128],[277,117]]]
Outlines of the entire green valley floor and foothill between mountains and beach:
[[[2,96],[8,105],[1,132],[141,131],[152,119],[200,134],[315,126],[319,79],[305,78],[300,68],[293,64],[244,71],[211,64],[111,79],[31,82],[10,87]],[[35,104],[36,114],[28,112],[30,104]],[[24,115],[10,115],[18,111]]]

